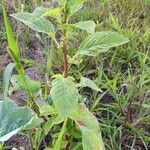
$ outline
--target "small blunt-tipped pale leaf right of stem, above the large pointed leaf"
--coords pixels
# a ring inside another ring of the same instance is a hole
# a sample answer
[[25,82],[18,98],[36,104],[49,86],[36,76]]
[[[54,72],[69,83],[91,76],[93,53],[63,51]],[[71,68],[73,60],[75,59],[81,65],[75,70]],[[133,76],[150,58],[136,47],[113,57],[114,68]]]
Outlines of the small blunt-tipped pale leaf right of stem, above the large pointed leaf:
[[95,27],[96,27],[95,22],[92,20],[80,21],[76,24],[69,24],[69,26],[85,30],[88,33],[92,33],[92,34],[95,32]]

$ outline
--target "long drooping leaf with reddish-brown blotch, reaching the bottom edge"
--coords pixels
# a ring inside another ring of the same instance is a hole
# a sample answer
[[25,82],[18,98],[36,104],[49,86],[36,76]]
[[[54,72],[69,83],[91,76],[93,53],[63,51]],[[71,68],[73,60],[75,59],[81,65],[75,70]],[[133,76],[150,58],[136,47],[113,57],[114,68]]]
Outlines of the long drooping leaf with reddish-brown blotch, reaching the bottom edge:
[[99,123],[85,104],[80,104],[78,106],[78,115],[75,116],[74,120],[82,132],[83,149],[104,150]]

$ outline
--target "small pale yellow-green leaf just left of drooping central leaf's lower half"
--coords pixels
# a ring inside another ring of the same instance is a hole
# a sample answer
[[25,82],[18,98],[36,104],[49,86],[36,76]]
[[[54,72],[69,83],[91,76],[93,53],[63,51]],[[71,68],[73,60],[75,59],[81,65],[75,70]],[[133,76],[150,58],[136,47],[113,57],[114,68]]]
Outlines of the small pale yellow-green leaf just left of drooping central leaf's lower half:
[[40,111],[40,115],[42,116],[57,114],[57,111],[51,105],[42,106],[40,107],[39,111]]

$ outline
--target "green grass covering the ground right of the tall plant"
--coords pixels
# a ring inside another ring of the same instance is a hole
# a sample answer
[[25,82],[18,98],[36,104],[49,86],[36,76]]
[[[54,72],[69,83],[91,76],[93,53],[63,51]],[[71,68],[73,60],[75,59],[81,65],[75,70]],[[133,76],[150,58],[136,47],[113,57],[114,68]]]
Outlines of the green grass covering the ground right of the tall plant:
[[[104,91],[102,94],[88,89],[80,92],[100,122],[108,150],[150,149],[149,16],[149,0],[91,0],[72,20],[94,19],[97,31],[117,31],[130,39],[125,46],[84,59],[82,65],[70,71],[77,80],[82,72]],[[71,54],[84,37],[83,32],[78,39],[73,39]],[[5,34],[0,32],[0,43],[3,39]],[[29,45],[24,48],[29,49]]]

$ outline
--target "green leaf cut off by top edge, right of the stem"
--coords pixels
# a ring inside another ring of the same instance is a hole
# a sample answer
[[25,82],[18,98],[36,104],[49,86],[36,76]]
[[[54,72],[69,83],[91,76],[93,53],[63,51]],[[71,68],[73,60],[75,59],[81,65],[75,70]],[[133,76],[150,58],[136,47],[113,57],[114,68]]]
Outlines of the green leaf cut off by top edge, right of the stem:
[[83,7],[86,0],[68,0],[65,6],[65,10],[69,16],[72,16],[75,12]]

